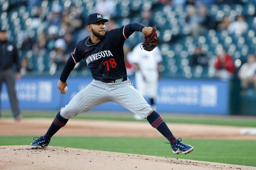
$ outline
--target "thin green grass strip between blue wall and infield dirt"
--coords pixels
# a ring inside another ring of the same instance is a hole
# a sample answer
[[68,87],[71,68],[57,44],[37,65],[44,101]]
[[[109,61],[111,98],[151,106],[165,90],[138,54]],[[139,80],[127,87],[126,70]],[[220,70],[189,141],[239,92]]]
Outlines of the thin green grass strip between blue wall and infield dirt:
[[[23,117],[27,118],[54,118],[58,111],[23,111]],[[229,125],[229,126],[243,126],[256,127],[256,117],[237,117],[237,116],[220,116],[220,115],[173,115],[160,114],[165,122],[168,123],[191,123],[191,124],[211,124],[211,125]],[[5,111],[2,117],[12,117],[10,111]],[[132,113],[97,113],[88,112],[77,115],[74,119],[90,119],[90,120],[117,120],[117,121],[135,121]],[[142,121],[147,121],[146,119]]]

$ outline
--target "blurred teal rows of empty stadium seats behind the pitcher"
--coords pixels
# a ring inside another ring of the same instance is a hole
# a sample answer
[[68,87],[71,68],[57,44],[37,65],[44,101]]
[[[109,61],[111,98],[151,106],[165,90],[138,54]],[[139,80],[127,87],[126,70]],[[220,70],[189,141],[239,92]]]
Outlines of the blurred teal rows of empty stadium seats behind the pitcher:
[[[12,9],[9,9],[10,3],[16,3]],[[35,15],[36,8],[29,10],[25,4],[18,5],[17,0],[12,2],[8,0],[2,0],[0,3],[0,21],[8,28],[8,38],[17,43],[17,46],[21,44],[20,34],[26,30],[32,41],[36,41],[37,32],[44,30],[47,32],[47,19],[41,28],[30,28],[31,20]],[[164,57],[164,73],[166,76],[174,76],[175,74],[183,75],[187,78],[190,77],[204,77],[214,75],[212,65],[210,68],[190,67],[190,57],[194,54],[195,46],[200,45],[202,51],[206,53],[209,58],[213,59],[216,56],[218,48],[223,47],[228,51],[228,54],[236,59],[244,60],[249,53],[255,53],[256,47],[256,18],[255,18],[255,5],[256,0],[247,0],[239,4],[212,4],[207,6],[210,17],[217,22],[220,22],[225,15],[231,15],[235,18],[238,15],[243,14],[246,18],[246,22],[249,25],[249,30],[243,35],[229,34],[226,30],[206,30],[205,33],[198,37],[190,36],[190,26],[180,23],[181,19],[186,16],[186,7],[171,5],[163,5],[157,1],[146,0],[115,0],[117,9],[117,15],[114,18],[118,26],[126,25],[133,21],[140,22],[141,11],[151,9],[153,22],[157,25],[157,31],[159,36],[159,47]],[[39,1],[39,5],[42,6],[44,12],[51,12],[51,10],[59,5],[62,9],[67,9],[70,5],[76,5],[83,9],[83,16],[87,16],[89,13],[95,12],[96,1],[91,0],[54,0],[54,1]],[[5,12],[8,11],[8,12]],[[80,30],[76,30],[79,32]],[[79,37],[76,35],[75,41]],[[81,38],[81,37],[80,37]],[[143,35],[140,33],[133,33],[126,41],[128,45],[134,47],[139,42]],[[54,64],[49,59],[50,51],[53,49],[52,42],[48,42],[48,52],[42,58],[41,56],[31,55],[30,62],[33,64],[33,70],[36,71],[52,71],[54,72]],[[31,53],[27,52],[27,53]],[[22,53],[24,54],[24,53]],[[45,58],[46,57],[46,58]],[[48,64],[47,64],[48,63]],[[51,64],[49,64],[51,63]],[[42,69],[43,68],[43,69]],[[189,70],[190,68],[190,70]],[[55,68],[56,69],[56,68]],[[88,68],[87,68],[88,69]],[[88,70],[79,68],[78,70],[84,70],[83,74],[88,75]],[[186,75],[187,73],[187,75]]]

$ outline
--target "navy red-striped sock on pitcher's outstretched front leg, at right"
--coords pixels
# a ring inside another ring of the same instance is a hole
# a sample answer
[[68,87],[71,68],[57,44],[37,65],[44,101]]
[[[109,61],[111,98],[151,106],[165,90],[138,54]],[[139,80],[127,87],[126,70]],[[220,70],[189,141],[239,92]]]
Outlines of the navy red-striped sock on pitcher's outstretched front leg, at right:
[[176,141],[176,138],[172,135],[172,132],[165,124],[163,118],[156,111],[153,111],[151,115],[147,117],[147,120],[150,125],[164,135],[164,137],[166,137],[170,143]]

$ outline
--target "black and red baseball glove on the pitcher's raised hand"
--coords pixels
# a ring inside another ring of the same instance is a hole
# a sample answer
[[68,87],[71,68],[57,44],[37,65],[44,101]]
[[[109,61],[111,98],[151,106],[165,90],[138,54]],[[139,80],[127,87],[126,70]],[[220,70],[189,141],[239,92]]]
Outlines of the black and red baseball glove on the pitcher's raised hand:
[[159,42],[157,33],[156,33],[156,26],[153,26],[152,28],[153,30],[149,35],[144,34],[145,41],[143,42],[143,44],[141,44],[142,48],[145,49],[146,51],[152,51],[154,48],[156,48]]

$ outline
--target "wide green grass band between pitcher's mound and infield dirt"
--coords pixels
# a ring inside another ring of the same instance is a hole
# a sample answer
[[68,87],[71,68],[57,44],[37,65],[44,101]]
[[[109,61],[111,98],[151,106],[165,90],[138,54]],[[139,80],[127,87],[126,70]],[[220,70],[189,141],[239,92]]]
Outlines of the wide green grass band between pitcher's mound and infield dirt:
[[[32,138],[30,136],[1,136],[0,145],[29,145]],[[51,146],[256,166],[255,141],[183,139],[184,143],[191,144],[195,148],[187,155],[173,154],[170,145],[164,142],[166,140],[163,138],[55,136],[51,140]]]

